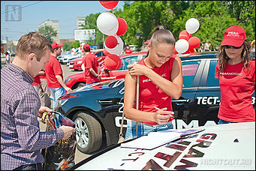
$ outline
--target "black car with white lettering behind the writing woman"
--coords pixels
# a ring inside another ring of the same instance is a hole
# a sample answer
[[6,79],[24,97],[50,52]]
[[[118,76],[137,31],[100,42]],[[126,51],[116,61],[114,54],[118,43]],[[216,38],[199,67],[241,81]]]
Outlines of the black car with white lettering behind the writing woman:
[[[183,89],[179,100],[172,100],[173,128],[217,124],[221,100],[215,79],[216,54],[180,56]],[[84,153],[97,151],[119,139],[125,80],[96,83],[68,93],[57,102],[56,110],[76,123],[77,148]],[[255,102],[255,92],[252,104]],[[125,120],[124,127],[128,120]],[[123,129],[123,134],[125,134]]]

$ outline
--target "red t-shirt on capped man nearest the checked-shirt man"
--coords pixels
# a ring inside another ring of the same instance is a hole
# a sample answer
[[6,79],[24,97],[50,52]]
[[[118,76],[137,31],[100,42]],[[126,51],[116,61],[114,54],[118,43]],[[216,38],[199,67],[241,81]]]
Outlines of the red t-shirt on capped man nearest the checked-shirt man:
[[56,75],[60,75],[63,79],[62,67],[56,56],[50,55],[50,60],[45,67],[45,74],[47,76],[48,88],[56,89],[62,87],[56,79]]

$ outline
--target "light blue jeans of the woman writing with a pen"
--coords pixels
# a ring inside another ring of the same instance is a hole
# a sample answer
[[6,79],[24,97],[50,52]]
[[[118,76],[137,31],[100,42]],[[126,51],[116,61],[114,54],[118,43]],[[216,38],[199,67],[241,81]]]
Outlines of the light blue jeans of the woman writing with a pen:
[[[131,121],[131,122],[130,122]],[[130,120],[128,121],[125,140],[136,138],[136,121]],[[158,132],[161,130],[173,129],[172,122],[168,122],[167,124],[143,124],[138,121],[138,137],[147,135],[150,132]]]

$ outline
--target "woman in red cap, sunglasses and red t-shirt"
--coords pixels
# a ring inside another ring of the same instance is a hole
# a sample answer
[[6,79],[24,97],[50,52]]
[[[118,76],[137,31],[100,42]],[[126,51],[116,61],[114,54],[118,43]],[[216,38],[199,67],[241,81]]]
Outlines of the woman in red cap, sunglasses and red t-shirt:
[[255,121],[251,105],[251,95],[255,91],[255,58],[249,56],[250,49],[242,27],[227,28],[218,51],[215,71],[221,88],[218,124]]

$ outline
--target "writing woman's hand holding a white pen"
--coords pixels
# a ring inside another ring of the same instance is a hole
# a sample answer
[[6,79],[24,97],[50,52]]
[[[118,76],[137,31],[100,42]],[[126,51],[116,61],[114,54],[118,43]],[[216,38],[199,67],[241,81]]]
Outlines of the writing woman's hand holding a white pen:
[[167,122],[170,120],[173,120],[174,118],[174,113],[171,111],[166,111],[167,108],[164,108],[161,110],[158,110],[155,112],[155,122],[158,124],[167,124]]

